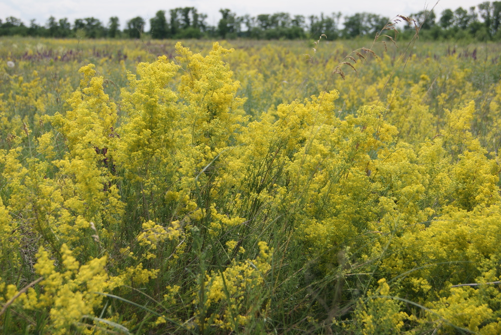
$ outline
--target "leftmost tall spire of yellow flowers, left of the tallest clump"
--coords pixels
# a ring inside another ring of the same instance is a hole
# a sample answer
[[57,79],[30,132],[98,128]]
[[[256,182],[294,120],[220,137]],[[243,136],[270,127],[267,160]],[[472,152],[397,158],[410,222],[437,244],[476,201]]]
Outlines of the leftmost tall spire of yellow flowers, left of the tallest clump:
[[[68,151],[63,159],[53,161],[58,168],[67,222],[58,229],[65,240],[79,238],[112,239],[123,205],[113,182],[113,160],[108,150],[118,139],[114,131],[116,106],[103,91],[103,77],[96,77],[93,65],[82,67],[84,78],[68,104],[71,110],[65,116],[56,113],[48,117],[65,138]],[[90,228],[90,229],[89,229]],[[86,233],[82,232],[82,229]],[[91,230],[92,229],[92,230]],[[97,242],[99,244],[101,241]]]

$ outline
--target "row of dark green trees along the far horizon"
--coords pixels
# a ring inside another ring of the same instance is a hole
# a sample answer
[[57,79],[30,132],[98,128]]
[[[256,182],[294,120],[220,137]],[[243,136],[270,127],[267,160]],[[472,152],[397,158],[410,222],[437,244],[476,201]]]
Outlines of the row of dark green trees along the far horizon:
[[[221,9],[219,13],[221,18],[214,27],[207,25],[207,15],[198,13],[194,7],[175,8],[168,13],[158,11],[149,19],[149,31],[144,30],[146,21],[139,16],[128,20],[122,30],[117,17],[111,17],[107,24],[93,17],[76,19],[74,23],[70,23],[67,18],[57,20],[50,17],[45,25],[39,25],[35,20],[25,25],[20,19],[9,17],[5,21],[0,19],[0,36],[293,40],[318,38],[321,34],[326,34],[330,40],[335,40],[373,37],[390,20],[372,13],[356,13],[344,17],[341,13],[309,17],[291,16],[288,13],[237,16],[229,9]],[[410,18],[421,27],[422,38],[501,40],[500,1],[483,2],[469,9],[446,9],[441,12],[439,18],[433,10],[411,14]],[[413,31],[414,27],[406,26],[403,35],[411,36]]]

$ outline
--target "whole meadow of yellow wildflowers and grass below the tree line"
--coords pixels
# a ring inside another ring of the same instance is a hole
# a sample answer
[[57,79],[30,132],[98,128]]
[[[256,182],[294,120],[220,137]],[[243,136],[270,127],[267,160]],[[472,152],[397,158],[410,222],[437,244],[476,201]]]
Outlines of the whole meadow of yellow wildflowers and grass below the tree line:
[[501,333],[500,54],[3,38],[0,331]]

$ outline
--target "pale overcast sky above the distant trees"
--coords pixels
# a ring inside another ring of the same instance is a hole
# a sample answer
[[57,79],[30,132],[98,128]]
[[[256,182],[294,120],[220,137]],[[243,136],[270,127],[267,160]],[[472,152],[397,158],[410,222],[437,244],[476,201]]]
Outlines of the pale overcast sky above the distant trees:
[[[465,9],[476,6],[484,0],[441,0],[435,8],[439,15],[444,9]],[[71,23],[75,19],[95,17],[107,25],[109,18],[117,16],[121,28],[133,17],[152,18],[158,10],[168,11],[176,7],[195,7],[199,13],[208,15],[206,23],[215,26],[220,19],[219,9],[228,8],[237,15],[273,14],[286,12],[291,15],[319,15],[341,12],[352,15],[360,12],[380,14],[393,18],[398,14],[409,15],[432,8],[436,3],[426,1],[398,0],[357,0],[357,1],[286,1],[286,0],[250,0],[236,2],[234,0],[0,0],[0,19],[13,16],[29,24],[35,19],[38,24],[45,25],[52,15],[56,19],[68,18]]]

